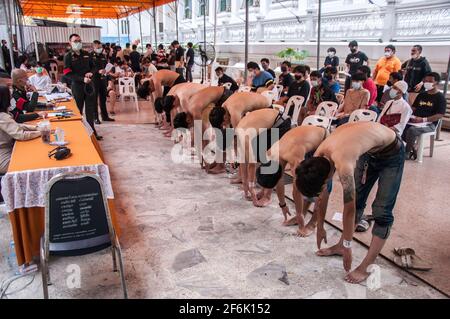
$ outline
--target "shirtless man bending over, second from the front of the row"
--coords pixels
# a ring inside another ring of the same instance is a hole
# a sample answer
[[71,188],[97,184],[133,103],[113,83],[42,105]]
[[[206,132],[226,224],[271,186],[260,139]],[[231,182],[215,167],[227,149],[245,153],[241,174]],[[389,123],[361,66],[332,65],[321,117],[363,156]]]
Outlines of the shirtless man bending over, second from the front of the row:
[[[309,236],[314,231],[317,214],[314,214],[309,223],[305,225],[304,215],[307,212],[308,202],[304,201],[303,196],[298,192],[294,177],[292,198],[295,203],[296,216],[290,220],[287,219],[288,215],[291,214],[285,201],[282,176],[287,164],[289,164],[292,176],[295,176],[295,168],[305,159],[305,156],[312,155],[327,136],[328,132],[323,127],[307,125],[293,128],[269,149],[267,158],[270,162],[261,165],[256,170],[257,182],[263,187],[261,193],[257,195],[258,206],[265,206],[265,203],[270,202],[272,189],[276,186],[279,205],[284,215],[283,224],[286,226],[298,224],[297,233],[302,237]],[[279,166],[277,172],[273,174],[264,173],[264,169],[271,163]],[[322,203],[326,203],[326,201],[322,201]],[[317,209],[318,205],[315,208]]]

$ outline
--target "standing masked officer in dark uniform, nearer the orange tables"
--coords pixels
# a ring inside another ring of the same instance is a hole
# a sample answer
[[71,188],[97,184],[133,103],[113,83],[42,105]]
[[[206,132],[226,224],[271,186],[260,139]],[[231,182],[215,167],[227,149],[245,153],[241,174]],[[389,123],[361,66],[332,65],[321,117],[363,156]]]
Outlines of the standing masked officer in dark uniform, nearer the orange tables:
[[89,53],[82,49],[78,34],[71,34],[69,41],[71,50],[64,56],[64,75],[72,82],[72,94],[81,113],[86,105],[86,120],[94,130],[96,138],[100,140],[102,137],[97,135],[94,127],[94,112],[97,109],[95,88],[91,84],[94,63]]

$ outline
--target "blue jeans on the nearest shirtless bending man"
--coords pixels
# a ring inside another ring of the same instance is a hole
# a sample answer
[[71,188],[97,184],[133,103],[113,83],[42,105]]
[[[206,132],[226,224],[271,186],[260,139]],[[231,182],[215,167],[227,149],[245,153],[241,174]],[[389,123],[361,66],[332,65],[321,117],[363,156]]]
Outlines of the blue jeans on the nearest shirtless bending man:
[[[397,153],[387,158],[380,159],[367,153],[363,154],[355,168],[356,223],[361,220],[369,193],[378,180],[377,194],[372,203],[372,215],[375,220],[372,235],[381,239],[389,237],[394,223],[392,210],[400,190],[404,163],[405,147],[402,144]],[[366,181],[363,184],[365,169]]]

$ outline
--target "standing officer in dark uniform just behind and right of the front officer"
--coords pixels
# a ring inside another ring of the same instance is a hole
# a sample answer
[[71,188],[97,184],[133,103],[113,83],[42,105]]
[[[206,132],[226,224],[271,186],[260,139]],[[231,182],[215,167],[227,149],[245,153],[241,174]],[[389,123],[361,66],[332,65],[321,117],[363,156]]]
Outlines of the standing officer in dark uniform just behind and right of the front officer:
[[[108,80],[106,79],[105,67],[108,63],[106,56],[103,54],[103,47],[100,41],[95,40],[92,44],[91,59],[94,63],[94,75],[92,76],[92,82],[94,83],[95,92],[97,94],[96,101],[99,102],[100,111],[102,113],[103,121],[114,121],[108,115],[108,110],[106,109],[106,95]],[[98,107],[95,108],[94,112],[95,124],[100,124],[98,117]]]

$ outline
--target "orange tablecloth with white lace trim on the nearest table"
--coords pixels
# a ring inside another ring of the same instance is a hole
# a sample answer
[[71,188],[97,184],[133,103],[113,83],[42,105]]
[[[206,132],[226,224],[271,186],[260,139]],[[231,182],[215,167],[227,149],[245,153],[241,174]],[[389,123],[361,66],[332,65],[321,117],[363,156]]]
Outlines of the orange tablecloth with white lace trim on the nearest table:
[[[100,167],[107,171],[104,176],[109,178],[109,171],[102,160],[100,147],[96,141],[93,142],[94,140],[89,136],[82,121],[51,122],[51,126],[52,129],[59,127],[65,131],[65,140],[69,142],[68,147],[71,149],[72,155],[67,159],[57,161],[48,157],[48,152],[54,146],[43,143],[40,138],[30,141],[17,141],[8,172],[3,177],[6,179],[3,182],[3,187],[14,188],[8,183],[8,180],[21,182],[26,180],[23,176],[30,174],[30,172],[31,174],[45,172],[45,174],[48,174],[49,180],[52,174],[60,173],[61,170],[77,171],[78,169],[85,170],[86,167]],[[103,180],[105,180],[104,176],[101,176]],[[44,188],[43,184],[46,182],[44,180],[39,187]],[[28,180],[26,180],[26,183],[28,183]],[[105,187],[105,189],[108,189],[108,187]],[[109,189],[112,193],[110,181]],[[5,194],[5,190],[3,190],[3,193]],[[42,192],[39,193],[44,196]],[[14,208],[10,209],[9,212],[19,265],[30,263],[33,258],[39,256],[40,238],[44,233],[44,205],[27,205],[27,196],[28,194],[24,194],[25,199],[23,199],[22,194],[17,194],[17,198],[14,198]],[[5,201],[7,201],[7,198],[5,198]],[[7,207],[12,206],[11,203],[6,203]],[[120,235],[113,198],[108,197],[108,204],[113,226],[117,235]]]

